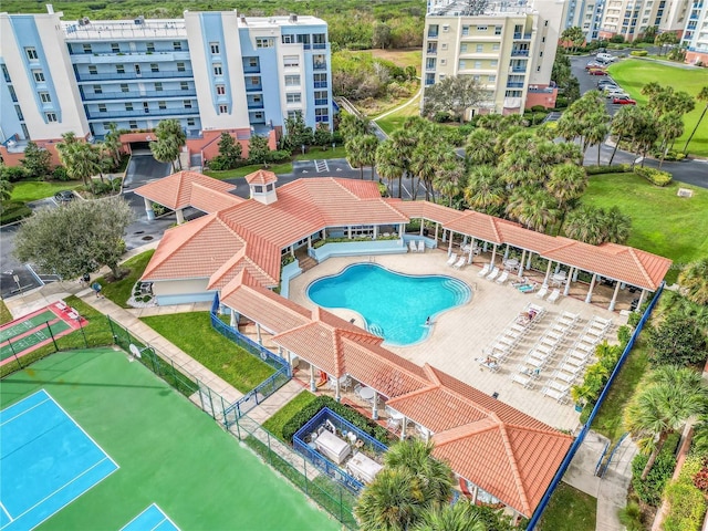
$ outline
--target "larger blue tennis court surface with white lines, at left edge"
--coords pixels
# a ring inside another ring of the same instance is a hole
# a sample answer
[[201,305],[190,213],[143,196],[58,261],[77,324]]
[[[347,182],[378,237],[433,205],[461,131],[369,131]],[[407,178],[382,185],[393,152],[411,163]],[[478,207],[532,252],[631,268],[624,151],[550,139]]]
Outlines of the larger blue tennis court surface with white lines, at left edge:
[[0,530],[33,529],[118,466],[44,389],[0,412]]

